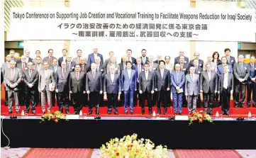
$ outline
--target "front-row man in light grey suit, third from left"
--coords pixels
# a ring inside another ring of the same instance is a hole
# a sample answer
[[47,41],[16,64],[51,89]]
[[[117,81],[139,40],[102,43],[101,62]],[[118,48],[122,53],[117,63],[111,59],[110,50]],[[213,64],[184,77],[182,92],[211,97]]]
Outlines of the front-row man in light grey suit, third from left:
[[[43,62],[43,70],[39,72],[38,91],[41,93],[41,106],[45,114],[45,97],[48,98],[48,112],[52,108],[52,91],[55,90],[55,77],[52,70],[48,69],[48,62]],[[49,87],[51,85],[51,87]]]

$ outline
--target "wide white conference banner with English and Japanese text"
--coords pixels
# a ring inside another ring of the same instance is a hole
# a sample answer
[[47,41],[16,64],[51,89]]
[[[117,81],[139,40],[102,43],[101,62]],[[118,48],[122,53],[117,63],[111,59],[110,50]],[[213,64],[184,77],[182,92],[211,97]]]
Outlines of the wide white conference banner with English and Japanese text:
[[11,8],[11,40],[255,41],[251,9]]

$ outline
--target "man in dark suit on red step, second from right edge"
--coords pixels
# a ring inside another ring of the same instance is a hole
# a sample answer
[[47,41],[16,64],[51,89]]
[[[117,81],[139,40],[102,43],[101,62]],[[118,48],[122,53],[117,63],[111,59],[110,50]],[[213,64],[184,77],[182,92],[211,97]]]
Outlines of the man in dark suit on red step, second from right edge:
[[247,64],[243,60],[243,55],[239,55],[238,62],[233,66],[235,77],[235,108],[238,108],[238,106],[245,108],[245,86],[250,75],[250,69],[247,69]]

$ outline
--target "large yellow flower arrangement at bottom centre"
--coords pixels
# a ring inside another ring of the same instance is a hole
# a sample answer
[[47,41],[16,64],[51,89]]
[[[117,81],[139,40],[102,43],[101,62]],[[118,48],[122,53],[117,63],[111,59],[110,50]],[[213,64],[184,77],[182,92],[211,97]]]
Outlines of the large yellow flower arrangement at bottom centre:
[[101,146],[101,158],[167,158],[167,147],[155,144],[150,140],[140,140],[136,134],[126,135],[121,139],[115,138]]

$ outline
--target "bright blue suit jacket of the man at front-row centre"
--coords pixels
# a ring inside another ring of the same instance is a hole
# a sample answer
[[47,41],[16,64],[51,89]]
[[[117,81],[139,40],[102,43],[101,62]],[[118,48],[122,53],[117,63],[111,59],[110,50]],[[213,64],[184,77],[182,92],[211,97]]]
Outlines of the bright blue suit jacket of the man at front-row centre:
[[121,87],[123,91],[135,91],[137,89],[137,77],[134,69],[130,69],[130,79],[128,77],[128,70],[123,70],[121,74]]

